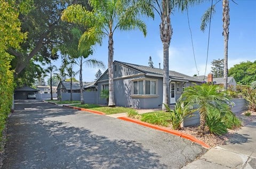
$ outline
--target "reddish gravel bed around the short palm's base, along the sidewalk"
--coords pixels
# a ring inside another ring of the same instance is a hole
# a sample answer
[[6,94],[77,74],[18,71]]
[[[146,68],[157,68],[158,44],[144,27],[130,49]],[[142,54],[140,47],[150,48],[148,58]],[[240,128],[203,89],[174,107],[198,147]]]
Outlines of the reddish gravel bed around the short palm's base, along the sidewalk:
[[[242,121],[242,125],[246,126],[250,124],[252,121],[256,120],[256,112],[251,112],[251,115],[246,116],[246,112],[250,111],[245,111],[242,113],[237,113],[236,116]],[[198,132],[198,125],[197,126],[186,126],[180,130],[180,132],[189,134],[191,136],[194,136],[195,138],[205,142],[207,145],[210,147],[214,147],[217,145],[226,145],[227,143],[230,142],[230,138],[233,136],[233,134],[239,129],[235,130],[228,130],[226,134],[223,134],[222,136],[217,136],[214,134],[211,134],[209,131],[207,131],[207,127],[205,127],[205,134],[204,136],[199,136],[197,134]]]

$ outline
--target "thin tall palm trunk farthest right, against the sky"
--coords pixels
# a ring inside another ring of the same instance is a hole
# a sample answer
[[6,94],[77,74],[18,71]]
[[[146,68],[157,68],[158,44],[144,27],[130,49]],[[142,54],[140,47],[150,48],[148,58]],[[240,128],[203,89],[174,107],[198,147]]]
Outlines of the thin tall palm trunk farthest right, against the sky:
[[222,1],[222,21],[223,21],[223,36],[224,36],[224,90],[228,89],[228,37],[229,37],[229,2]]

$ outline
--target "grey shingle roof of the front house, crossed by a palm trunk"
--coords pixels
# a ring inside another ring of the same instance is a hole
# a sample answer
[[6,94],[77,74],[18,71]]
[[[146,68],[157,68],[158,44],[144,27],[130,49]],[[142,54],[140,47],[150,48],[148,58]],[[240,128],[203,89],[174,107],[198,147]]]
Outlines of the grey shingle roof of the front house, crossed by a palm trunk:
[[[163,75],[163,69],[158,69],[155,67],[149,67],[149,66],[143,66],[143,65],[137,65],[137,64],[131,64],[131,63],[125,63],[125,62],[119,62],[115,61],[116,63],[131,67],[137,71],[140,71],[142,73],[148,73],[152,75]],[[202,82],[201,79],[197,79],[194,77],[190,77],[189,75],[182,74],[175,71],[169,71],[169,77],[171,80],[177,80],[177,81],[194,81],[194,82]]]

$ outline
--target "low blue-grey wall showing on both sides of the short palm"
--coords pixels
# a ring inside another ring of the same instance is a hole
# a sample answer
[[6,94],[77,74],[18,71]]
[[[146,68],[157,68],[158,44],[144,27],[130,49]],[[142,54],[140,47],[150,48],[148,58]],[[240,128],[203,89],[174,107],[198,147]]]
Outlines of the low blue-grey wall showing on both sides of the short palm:
[[[231,111],[233,113],[240,113],[247,109],[247,101],[243,98],[238,99],[231,99],[231,102],[233,102],[235,105],[231,108]],[[183,126],[189,126],[198,124],[200,122],[200,115],[198,112],[194,113],[195,116],[191,116],[183,121]]]

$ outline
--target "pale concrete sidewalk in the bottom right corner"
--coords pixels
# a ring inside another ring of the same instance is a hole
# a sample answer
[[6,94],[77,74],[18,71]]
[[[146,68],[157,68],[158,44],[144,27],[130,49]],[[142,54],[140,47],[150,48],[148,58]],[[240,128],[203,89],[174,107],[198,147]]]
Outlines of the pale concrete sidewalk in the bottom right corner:
[[192,168],[256,168],[256,120],[234,133],[228,145],[211,148],[202,157],[186,165]]

